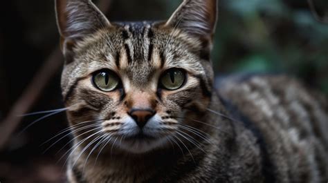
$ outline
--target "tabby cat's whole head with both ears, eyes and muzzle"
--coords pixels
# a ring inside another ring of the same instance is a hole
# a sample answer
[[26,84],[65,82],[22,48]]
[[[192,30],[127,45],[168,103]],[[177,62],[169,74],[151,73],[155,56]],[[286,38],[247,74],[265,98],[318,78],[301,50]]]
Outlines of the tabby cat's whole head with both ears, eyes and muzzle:
[[130,153],[186,141],[212,93],[217,0],[185,0],[156,23],[111,23],[89,0],[57,0],[56,10],[75,136]]

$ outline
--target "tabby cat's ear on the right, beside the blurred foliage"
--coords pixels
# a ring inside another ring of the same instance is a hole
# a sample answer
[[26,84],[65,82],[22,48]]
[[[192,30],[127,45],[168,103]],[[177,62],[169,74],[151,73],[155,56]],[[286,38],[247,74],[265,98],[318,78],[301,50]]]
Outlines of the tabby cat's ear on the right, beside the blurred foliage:
[[183,0],[165,26],[212,39],[217,23],[217,0]]

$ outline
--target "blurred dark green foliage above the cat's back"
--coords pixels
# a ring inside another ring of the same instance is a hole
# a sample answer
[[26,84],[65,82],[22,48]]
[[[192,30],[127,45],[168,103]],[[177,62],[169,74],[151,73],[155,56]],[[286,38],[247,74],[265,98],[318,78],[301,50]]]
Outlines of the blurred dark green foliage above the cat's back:
[[212,58],[217,73],[286,73],[328,94],[328,24],[306,1],[221,1]]

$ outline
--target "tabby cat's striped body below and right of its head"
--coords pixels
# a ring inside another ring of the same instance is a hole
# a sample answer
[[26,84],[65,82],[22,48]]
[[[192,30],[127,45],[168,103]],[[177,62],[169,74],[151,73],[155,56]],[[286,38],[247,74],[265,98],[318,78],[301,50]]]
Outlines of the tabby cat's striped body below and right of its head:
[[[210,143],[69,168],[73,182],[325,182],[327,99],[286,76],[224,78],[203,121]],[[274,109],[274,110],[273,110]],[[221,115],[226,115],[222,117]],[[231,119],[230,119],[231,118]],[[213,127],[215,126],[215,127]],[[78,152],[77,152],[78,153]],[[192,160],[192,158],[194,160]],[[74,158],[72,159],[74,161]],[[85,175],[81,175],[84,169]],[[80,181],[78,181],[80,179]],[[106,181],[105,181],[106,180]]]

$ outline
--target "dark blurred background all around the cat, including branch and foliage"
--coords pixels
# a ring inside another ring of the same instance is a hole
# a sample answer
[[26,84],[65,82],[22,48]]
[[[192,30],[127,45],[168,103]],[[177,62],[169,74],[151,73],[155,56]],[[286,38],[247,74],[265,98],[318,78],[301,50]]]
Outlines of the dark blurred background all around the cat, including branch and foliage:
[[[95,3],[111,21],[140,21],[181,1]],[[67,127],[64,113],[32,126],[43,115],[19,116],[63,108],[54,1],[3,0],[0,20],[0,182],[63,182],[70,137],[43,143]],[[286,73],[328,95],[328,1],[220,0],[212,61],[217,75]]]

